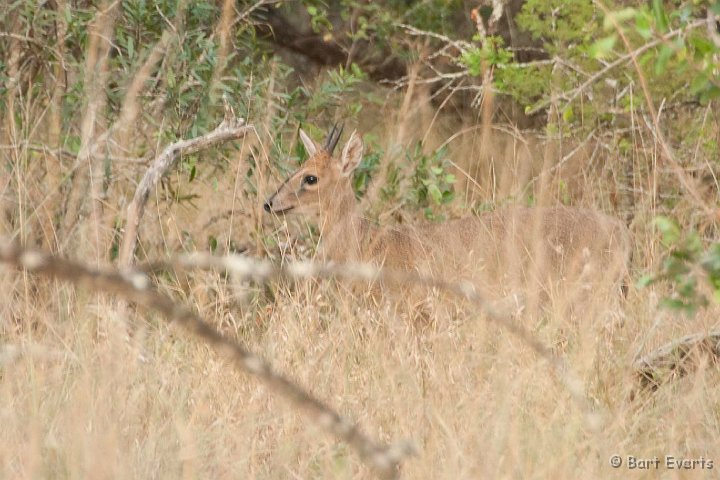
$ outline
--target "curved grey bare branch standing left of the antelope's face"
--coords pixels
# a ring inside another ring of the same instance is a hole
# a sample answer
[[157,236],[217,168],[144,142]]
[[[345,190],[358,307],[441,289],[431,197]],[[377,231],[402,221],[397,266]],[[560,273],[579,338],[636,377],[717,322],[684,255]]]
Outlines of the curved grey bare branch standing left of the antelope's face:
[[145,203],[150,195],[150,191],[157,185],[162,176],[165,175],[177,157],[179,155],[190,155],[223,142],[237,140],[252,129],[253,126],[245,125],[243,119],[226,118],[212,132],[201,137],[180,140],[165,147],[145,172],[145,175],[135,190],[135,195],[130,205],[128,205],[125,216],[125,233],[120,243],[120,252],[118,255],[118,265],[120,267],[132,265],[133,255],[135,254],[135,247],[138,241],[138,228],[145,213]]

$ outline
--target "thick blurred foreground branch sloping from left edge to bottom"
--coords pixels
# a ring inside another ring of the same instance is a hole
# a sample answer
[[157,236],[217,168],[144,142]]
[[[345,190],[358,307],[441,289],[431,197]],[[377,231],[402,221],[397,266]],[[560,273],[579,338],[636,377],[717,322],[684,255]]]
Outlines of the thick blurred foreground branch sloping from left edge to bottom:
[[177,305],[172,298],[158,292],[143,273],[95,270],[76,262],[2,242],[0,261],[92,290],[120,295],[161,313],[169,321],[177,323],[210,344],[217,353],[228,357],[241,370],[257,377],[269,389],[304,410],[318,425],[354,448],[360,458],[382,478],[395,478],[400,462],[414,452],[409,442],[384,445],[367,437],[357,424],[340,416],[307,390],[276,372],[264,358],[252,353],[242,343],[222,336],[193,310]]

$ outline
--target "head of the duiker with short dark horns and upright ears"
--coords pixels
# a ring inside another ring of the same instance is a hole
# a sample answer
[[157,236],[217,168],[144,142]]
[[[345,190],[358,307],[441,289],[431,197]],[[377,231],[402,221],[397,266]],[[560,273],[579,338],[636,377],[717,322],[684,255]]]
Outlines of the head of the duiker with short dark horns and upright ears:
[[340,158],[335,159],[332,152],[341,134],[342,127],[334,126],[321,146],[300,130],[300,139],[310,158],[267,199],[266,212],[313,214],[321,203],[332,201],[348,189],[352,192],[350,178],[362,160],[363,143],[353,132]]

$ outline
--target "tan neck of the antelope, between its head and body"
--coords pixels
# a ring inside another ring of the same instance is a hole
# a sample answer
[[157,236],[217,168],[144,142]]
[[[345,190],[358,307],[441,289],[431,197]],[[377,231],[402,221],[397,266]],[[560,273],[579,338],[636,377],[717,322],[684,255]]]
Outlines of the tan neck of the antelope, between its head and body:
[[355,192],[348,179],[320,195],[320,252],[325,261],[359,262],[367,234]]

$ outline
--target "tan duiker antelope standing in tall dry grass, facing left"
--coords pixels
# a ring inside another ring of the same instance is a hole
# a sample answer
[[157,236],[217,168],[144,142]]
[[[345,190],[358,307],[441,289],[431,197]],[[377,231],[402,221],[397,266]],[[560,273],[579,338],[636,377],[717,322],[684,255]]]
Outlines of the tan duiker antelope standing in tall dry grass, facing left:
[[497,294],[577,282],[620,287],[630,255],[628,230],[594,210],[511,208],[442,224],[372,225],[358,212],[351,186],[362,140],[353,132],[337,160],[332,152],[339,136],[333,128],[321,146],[300,130],[310,158],[264,205],[275,214],[319,214],[324,260],[470,280]]

